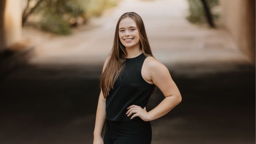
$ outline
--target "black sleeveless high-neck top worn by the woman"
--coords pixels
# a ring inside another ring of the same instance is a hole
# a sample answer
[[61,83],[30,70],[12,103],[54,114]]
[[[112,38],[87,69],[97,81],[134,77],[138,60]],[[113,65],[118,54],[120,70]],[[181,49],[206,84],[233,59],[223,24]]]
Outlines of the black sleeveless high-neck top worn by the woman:
[[[142,75],[142,65],[146,56],[142,53],[135,58],[127,58],[125,67],[120,73],[114,87],[106,98],[106,120],[131,121],[127,117],[127,107],[137,105],[147,106],[148,99],[154,89],[154,84],[147,83]],[[141,120],[135,117],[132,120]]]

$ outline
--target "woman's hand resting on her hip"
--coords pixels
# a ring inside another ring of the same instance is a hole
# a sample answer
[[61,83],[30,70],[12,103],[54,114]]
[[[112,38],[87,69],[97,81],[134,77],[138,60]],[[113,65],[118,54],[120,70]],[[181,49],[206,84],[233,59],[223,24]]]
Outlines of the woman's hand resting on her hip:
[[131,119],[133,119],[134,117],[140,117],[143,121],[150,121],[150,115],[146,111],[146,107],[142,109],[142,107],[140,106],[131,105],[127,107],[127,109],[129,109],[126,113],[128,114],[127,117],[133,114]]

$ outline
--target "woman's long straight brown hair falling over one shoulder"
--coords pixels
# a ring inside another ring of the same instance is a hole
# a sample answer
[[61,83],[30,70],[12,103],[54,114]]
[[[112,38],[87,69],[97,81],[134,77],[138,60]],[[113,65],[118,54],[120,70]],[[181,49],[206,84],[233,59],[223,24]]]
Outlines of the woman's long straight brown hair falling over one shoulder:
[[122,72],[124,68],[124,62],[127,58],[127,52],[118,35],[119,23],[123,18],[127,17],[132,18],[136,23],[137,29],[139,31],[140,49],[142,49],[142,52],[145,56],[153,56],[142,18],[135,12],[124,13],[117,21],[114,42],[109,56],[109,61],[101,75],[100,87],[102,89],[104,98],[106,98],[109,95],[109,91],[113,89],[114,83]]

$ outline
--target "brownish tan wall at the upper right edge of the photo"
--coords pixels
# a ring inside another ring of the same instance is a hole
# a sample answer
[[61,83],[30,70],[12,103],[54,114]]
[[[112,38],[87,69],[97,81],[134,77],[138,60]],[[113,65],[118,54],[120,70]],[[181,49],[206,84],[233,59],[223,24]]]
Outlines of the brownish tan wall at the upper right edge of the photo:
[[255,0],[220,0],[222,22],[255,63]]

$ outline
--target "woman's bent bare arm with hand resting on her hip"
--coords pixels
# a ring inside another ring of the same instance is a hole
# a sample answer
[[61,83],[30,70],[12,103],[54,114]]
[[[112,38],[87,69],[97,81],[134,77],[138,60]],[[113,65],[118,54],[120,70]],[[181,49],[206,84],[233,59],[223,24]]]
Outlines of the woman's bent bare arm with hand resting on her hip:
[[161,62],[155,60],[153,57],[147,58],[145,68],[148,72],[148,79],[162,91],[165,99],[148,112],[145,108],[142,109],[136,105],[129,106],[127,108],[127,116],[133,114],[131,119],[138,116],[144,121],[152,121],[162,117],[177,106],[181,102],[181,94],[172,80],[169,70]]

